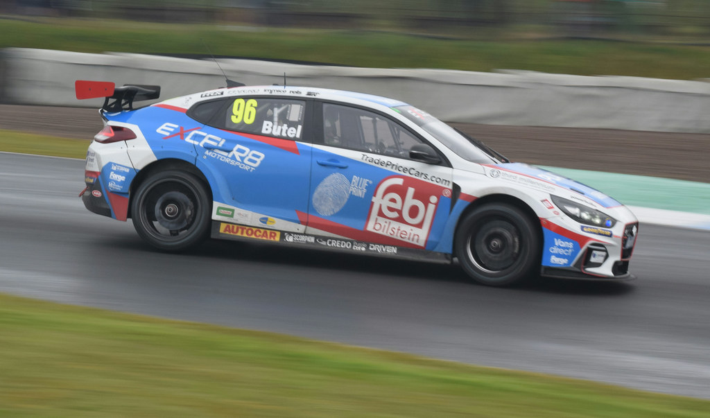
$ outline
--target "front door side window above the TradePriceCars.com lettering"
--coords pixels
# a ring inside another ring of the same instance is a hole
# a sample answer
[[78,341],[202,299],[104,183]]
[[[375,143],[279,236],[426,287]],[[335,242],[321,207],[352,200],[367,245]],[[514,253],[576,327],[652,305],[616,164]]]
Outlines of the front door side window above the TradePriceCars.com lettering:
[[422,143],[399,123],[371,111],[323,104],[326,145],[398,158],[409,158],[413,145]]

